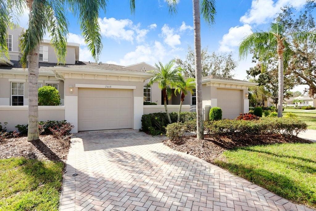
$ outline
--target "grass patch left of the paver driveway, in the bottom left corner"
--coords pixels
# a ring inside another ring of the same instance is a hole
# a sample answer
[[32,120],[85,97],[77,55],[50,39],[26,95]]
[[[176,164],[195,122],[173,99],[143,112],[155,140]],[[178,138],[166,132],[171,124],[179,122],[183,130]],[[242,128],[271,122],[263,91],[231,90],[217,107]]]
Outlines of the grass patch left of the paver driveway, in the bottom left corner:
[[0,159],[0,210],[58,210],[62,162]]

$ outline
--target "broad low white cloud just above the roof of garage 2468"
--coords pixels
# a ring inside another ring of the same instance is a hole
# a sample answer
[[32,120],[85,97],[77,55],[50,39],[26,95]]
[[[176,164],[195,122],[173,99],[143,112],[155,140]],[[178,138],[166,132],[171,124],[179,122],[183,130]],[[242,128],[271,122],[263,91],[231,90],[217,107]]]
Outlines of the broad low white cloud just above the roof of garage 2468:
[[111,64],[119,65],[131,65],[140,62],[146,62],[148,64],[155,64],[159,61],[165,61],[167,58],[167,51],[161,42],[156,41],[154,45],[143,44],[138,45],[134,51],[126,53],[123,59],[119,59],[119,62],[107,61]]

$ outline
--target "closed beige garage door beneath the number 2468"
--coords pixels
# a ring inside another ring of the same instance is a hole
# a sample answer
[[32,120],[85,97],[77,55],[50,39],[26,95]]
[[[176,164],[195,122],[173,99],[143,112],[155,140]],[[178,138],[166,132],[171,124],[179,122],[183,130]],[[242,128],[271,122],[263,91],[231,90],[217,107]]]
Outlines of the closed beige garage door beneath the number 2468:
[[79,88],[78,130],[132,127],[132,91]]

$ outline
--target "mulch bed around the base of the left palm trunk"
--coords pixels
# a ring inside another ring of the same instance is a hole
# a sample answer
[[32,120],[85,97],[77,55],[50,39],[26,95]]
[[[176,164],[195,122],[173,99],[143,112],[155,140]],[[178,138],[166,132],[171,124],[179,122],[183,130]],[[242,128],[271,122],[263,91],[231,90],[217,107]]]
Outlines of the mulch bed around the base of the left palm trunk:
[[58,140],[52,135],[40,135],[40,140],[33,142],[28,142],[27,137],[9,138],[0,141],[0,159],[25,157],[64,162],[69,147],[70,139]]

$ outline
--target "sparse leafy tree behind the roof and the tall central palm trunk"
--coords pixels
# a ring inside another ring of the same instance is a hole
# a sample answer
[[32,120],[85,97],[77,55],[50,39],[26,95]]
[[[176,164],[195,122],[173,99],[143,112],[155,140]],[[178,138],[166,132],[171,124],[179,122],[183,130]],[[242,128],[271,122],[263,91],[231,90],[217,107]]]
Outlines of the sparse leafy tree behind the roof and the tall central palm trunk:
[[[201,50],[202,58],[202,77],[216,75],[226,78],[233,78],[233,71],[238,66],[238,62],[233,59],[232,53],[209,53],[208,47]],[[183,69],[185,77],[195,78],[195,60],[194,51],[188,47],[188,53],[185,60],[179,57],[175,58],[175,63]]]

